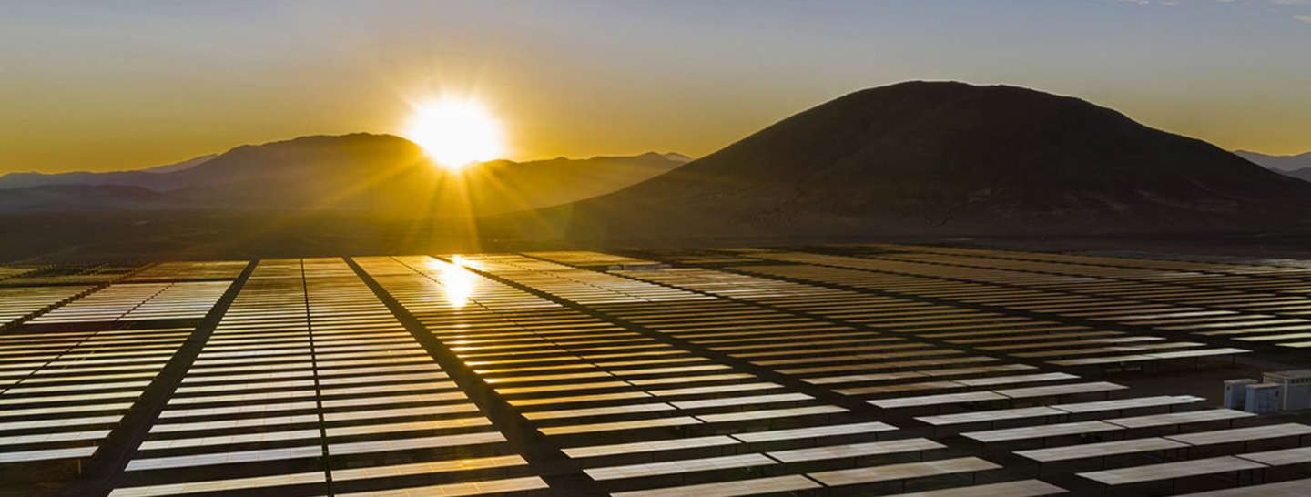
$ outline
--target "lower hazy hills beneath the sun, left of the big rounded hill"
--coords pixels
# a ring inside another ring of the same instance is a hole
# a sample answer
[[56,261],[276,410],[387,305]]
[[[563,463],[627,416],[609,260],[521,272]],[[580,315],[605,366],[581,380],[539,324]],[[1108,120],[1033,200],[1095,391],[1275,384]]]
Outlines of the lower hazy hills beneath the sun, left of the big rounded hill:
[[113,173],[0,177],[0,211],[342,210],[473,216],[568,203],[684,164],[676,153],[490,161],[451,173],[391,135],[304,136]]

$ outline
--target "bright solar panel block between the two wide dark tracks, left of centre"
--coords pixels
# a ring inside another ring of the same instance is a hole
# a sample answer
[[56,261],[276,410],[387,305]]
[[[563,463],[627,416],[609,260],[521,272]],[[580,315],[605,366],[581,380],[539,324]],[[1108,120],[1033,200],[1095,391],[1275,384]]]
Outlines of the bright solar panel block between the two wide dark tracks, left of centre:
[[111,494],[540,485],[469,481],[526,464],[489,425],[345,261],[262,261]]

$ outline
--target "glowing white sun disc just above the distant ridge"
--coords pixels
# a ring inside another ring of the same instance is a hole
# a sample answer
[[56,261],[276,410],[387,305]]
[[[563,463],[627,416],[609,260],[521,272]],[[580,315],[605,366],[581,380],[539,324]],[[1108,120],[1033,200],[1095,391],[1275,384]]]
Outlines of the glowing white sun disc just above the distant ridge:
[[447,169],[499,159],[501,123],[475,100],[439,98],[414,105],[405,138]]

